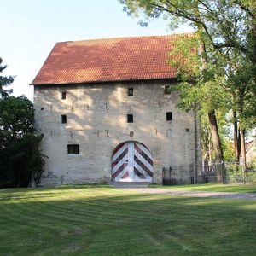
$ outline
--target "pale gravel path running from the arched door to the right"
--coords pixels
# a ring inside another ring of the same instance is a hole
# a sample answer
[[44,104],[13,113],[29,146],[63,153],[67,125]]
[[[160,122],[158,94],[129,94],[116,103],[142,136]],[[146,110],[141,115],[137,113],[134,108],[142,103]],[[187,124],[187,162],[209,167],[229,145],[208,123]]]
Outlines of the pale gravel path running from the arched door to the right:
[[189,191],[175,189],[154,189],[154,188],[120,188],[128,189],[140,193],[164,194],[164,195],[183,195],[192,197],[216,197],[231,199],[256,200],[256,193],[234,193],[234,192],[210,192],[210,191]]

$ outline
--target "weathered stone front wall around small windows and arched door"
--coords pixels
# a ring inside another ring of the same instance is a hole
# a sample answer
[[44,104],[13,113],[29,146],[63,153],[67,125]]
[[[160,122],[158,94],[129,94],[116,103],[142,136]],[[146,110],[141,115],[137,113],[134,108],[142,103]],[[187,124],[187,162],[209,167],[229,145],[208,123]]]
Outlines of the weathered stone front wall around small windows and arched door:
[[[129,141],[151,152],[154,183],[162,183],[162,170],[170,167],[174,183],[191,183],[191,177],[200,182],[200,125],[194,113],[176,108],[177,92],[165,94],[172,82],[35,85],[35,125],[49,157],[41,185],[108,182],[114,148]],[[172,112],[172,121],[166,112]],[[61,123],[63,114],[67,124]],[[133,123],[127,123],[127,114],[133,114]],[[79,154],[67,154],[67,144],[79,144]]]

